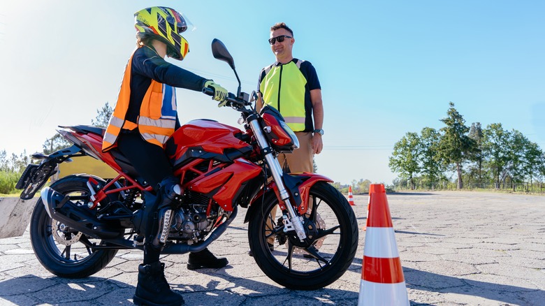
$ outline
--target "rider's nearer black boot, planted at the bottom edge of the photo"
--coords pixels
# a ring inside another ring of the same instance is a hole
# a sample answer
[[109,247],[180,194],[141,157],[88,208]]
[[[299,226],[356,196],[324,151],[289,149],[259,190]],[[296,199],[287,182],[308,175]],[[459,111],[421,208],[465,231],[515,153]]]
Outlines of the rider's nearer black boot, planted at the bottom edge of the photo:
[[133,296],[136,305],[179,306],[184,299],[170,290],[165,278],[165,264],[159,261],[138,265],[138,285]]

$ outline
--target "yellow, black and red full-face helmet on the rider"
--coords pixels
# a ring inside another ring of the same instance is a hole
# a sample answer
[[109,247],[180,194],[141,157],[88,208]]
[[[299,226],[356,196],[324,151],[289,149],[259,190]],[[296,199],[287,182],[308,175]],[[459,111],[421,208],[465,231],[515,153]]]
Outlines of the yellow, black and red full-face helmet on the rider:
[[167,55],[173,59],[184,59],[189,52],[189,43],[180,35],[187,29],[182,14],[164,6],[152,6],[134,13],[136,35],[150,35],[166,43]]

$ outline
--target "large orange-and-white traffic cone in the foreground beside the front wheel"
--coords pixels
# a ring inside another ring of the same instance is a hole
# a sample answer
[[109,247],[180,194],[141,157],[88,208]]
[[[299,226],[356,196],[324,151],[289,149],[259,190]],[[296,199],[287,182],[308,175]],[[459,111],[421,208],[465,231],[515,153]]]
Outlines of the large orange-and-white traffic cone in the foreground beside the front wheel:
[[358,306],[409,305],[383,184],[369,187],[369,211]]

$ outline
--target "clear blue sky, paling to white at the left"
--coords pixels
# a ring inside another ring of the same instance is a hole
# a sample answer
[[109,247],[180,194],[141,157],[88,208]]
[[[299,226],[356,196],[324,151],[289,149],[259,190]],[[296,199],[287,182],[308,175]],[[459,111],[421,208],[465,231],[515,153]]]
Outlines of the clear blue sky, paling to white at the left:
[[[545,150],[544,1],[1,1],[0,150],[41,151],[58,125],[90,124],[115,103],[135,47],[133,13],[170,6],[196,29],[190,52],[171,61],[231,92],[228,65],[213,59],[219,38],[242,89],[256,88],[274,61],[275,22],[294,31],[295,57],[322,85],[324,152],[319,173],[335,182],[391,184],[393,144],[409,131],[442,127],[449,101],[466,120],[502,123]],[[181,122],[238,114],[207,96],[177,90]]]

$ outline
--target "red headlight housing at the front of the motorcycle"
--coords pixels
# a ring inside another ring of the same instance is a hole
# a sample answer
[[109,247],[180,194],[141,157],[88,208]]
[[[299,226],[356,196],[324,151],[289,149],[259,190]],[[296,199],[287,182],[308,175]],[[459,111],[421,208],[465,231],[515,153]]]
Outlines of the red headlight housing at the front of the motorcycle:
[[264,126],[268,126],[265,135],[267,136],[270,146],[277,152],[291,152],[298,149],[299,140],[290,127],[284,122],[284,117],[280,115],[276,108],[266,105],[261,110]]

